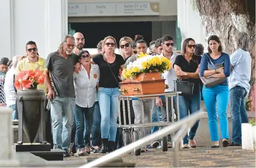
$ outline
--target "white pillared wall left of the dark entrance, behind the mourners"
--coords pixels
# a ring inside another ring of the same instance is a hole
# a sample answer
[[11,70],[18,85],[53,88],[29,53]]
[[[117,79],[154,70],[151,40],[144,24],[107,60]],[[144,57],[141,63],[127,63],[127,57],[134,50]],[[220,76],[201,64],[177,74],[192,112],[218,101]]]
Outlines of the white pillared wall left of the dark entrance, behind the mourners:
[[0,57],[24,55],[30,40],[37,43],[41,57],[56,51],[68,33],[67,10],[67,0],[1,0]]

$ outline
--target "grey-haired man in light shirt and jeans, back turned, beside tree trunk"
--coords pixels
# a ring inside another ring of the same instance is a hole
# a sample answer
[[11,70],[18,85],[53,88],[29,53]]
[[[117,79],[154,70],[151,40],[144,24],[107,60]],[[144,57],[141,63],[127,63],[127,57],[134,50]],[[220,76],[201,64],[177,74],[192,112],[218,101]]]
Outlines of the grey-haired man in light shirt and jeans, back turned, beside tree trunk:
[[248,123],[245,98],[250,91],[252,59],[247,51],[249,36],[240,32],[235,36],[235,53],[230,55],[231,74],[229,76],[230,114],[232,118],[231,146],[241,146],[241,123]]

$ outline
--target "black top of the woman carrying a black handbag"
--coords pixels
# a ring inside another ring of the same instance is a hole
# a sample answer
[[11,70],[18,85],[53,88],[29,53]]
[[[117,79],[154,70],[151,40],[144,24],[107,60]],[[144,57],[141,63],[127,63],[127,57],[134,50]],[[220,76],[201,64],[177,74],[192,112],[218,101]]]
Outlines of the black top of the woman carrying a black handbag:
[[[175,59],[175,62],[173,64],[174,65],[178,65],[179,67],[181,67],[181,70],[184,72],[195,72],[197,70],[198,65],[201,62],[202,57],[198,56],[198,55],[193,55],[192,59],[190,60],[190,62],[188,62],[185,57],[183,57],[183,55],[178,55]],[[193,92],[199,92],[200,91],[200,79],[193,79],[193,78],[189,78],[189,79],[185,79],[183,81],[189,81],[194,83],[194,89]]]

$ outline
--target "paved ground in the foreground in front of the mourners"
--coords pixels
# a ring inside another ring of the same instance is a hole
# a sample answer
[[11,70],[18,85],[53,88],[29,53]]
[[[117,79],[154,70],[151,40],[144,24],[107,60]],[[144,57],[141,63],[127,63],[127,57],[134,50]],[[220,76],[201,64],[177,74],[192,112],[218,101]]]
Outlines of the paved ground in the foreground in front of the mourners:
[[[91,154],[90,158],[102,154]],[[64,160],[83,160],[88,157],[70,157]],[[126,162],[135,162],[136,167],[173,167],[173,150],[162,152],[161,149],[150,149],[140,156],[123,155]],[[181,167],[255,167],[255,151],[243,150],[241,147],[227,148],[189,148],[180,151]]]

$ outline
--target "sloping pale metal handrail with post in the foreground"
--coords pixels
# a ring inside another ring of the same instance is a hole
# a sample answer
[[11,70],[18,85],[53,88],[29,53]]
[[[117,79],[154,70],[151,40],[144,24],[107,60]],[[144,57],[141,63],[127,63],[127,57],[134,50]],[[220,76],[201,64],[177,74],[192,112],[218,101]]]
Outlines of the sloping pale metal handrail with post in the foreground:
[[194,113],[186,118],[183,118],[182,120],[172,123],[169,126],[166,126],[162,128],[161,130],[150,134],[147,137],[144,137],[136,142],[130,143],[129,145],[119,148],[118,150],[115,150],[114,152],[111,152],[107,155],[104,155],[100,157],[99,159],[96,159],[92,162],[89,162],[85,165],[82,165],[80,168],[88,168],[88,167],[99,167],[107,162],[111,162],[111,160],[114,160],[119,155],[127,154],[128,152],[132,152],[133,150],[138,149],[142,147],[143,145],[150,143],[154,140],[158,140],[159,138],[165,137],[169,133],[175,132],[176,130],[179,130],[176,135],[174,135],[173,138],[173,147],[174,147],[174,167],[180,167],[180,145],[183,137],[185,137],[186,133],[188,132],[188,129],[192,127],[195,122],[202,118],[204,113],[197,112]]

